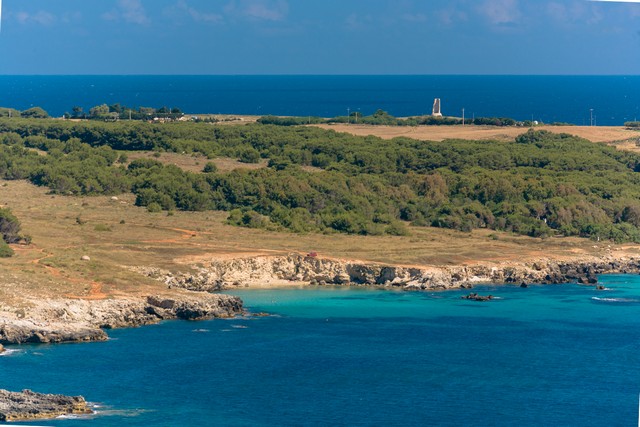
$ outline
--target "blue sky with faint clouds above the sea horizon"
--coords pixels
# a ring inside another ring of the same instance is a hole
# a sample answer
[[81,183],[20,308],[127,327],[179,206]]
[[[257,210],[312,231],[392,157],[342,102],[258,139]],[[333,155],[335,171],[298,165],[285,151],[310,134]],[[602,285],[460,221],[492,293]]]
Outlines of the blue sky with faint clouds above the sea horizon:
[[4,0],[0,74],[640,74],[640,3]]

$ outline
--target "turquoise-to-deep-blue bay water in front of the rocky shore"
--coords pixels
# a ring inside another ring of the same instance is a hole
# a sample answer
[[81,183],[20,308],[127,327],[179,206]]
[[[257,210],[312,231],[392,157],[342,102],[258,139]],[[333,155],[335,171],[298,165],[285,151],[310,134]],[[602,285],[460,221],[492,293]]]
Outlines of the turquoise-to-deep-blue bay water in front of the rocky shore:
[[99,405],[56,426],[636,425],[640,276],[601,283],[239,291],[273,315],[20,347],[0,388]]

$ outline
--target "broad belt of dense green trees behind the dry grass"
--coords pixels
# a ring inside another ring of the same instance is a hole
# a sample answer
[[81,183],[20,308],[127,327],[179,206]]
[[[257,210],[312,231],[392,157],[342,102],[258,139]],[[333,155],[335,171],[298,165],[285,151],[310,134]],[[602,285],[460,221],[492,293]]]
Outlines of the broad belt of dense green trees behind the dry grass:
[[[192,173],[156,159],[118,163],[134,150],[268,166]],[[514,142],[425,142],[265,124],[0,119],[5,179],[60,194],[132,191],[150,212],[224,210],[231,224],[294,232],[404,235],[410,222],[638,242],[638,171],[636,154],[534,130]]]

